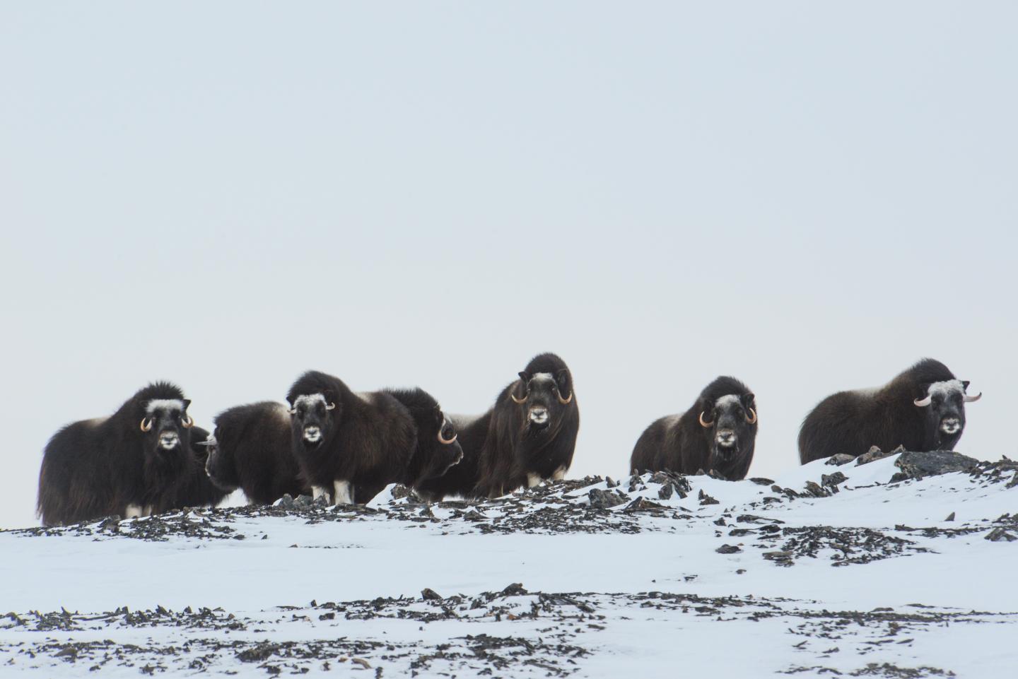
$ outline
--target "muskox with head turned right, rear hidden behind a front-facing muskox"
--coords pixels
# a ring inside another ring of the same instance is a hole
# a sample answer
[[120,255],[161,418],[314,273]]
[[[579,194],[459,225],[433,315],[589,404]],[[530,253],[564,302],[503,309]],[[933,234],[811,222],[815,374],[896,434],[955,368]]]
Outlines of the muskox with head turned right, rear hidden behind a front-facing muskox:
[[[442,406],[435,397],[422,389],[384,391],[406,406],[417,428],[417,446],[400,479],[401,484],[417,488],[443,476],[463,459],[456,428],[442,412]],[[451,443],[444,443],[443,440]],[[365,497],[369,492],[370,489],[355,491],[357,497]]]

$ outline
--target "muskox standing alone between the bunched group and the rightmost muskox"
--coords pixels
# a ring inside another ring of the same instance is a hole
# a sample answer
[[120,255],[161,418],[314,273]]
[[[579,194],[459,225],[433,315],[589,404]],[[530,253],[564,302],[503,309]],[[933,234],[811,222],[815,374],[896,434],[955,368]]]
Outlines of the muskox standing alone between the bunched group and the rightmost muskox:
[[692,407],[667,415],[643,431],[629,468],[636,471],[715,472],[745,478],[756,443],[756,403],[749,389],[720,377],[700,392]]

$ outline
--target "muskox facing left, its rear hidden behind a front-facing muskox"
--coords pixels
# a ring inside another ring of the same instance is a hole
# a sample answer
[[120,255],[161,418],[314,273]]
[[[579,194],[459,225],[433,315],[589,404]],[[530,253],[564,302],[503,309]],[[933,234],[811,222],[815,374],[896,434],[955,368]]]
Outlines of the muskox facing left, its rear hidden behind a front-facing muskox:
[[216,415],[206,465],[209,478],[224,491],[238,488],[248,502],[272,504],[289,494],[309,493],[293,455],[289,409],[262,401]]

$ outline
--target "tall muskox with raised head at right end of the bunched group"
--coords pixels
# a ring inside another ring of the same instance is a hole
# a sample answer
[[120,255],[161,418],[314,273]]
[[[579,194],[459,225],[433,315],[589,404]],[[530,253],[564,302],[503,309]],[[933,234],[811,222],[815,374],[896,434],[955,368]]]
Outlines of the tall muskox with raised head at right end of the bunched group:
[[[572,374],[554,353],[534,356],[519,380],[502,390],[486,417],[488,435],[477,453],[477,483],[470,495],[494,498],[540,479],[561,478],[568,471],[579,432],[579,405]],[[470,455],[467,444],[473,441],[463,438],[464,455]]]

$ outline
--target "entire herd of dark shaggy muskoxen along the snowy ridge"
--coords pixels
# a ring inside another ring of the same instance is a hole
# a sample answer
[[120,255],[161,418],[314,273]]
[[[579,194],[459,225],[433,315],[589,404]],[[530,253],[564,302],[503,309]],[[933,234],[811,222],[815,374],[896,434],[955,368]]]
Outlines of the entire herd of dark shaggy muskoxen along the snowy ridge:
[[[805,464],[878,446],[950,450],[965,428],[968,382],[920,360],[879,389],[839,392],[806,415]],[[110,515],[146,516],[215,506],[238,489],[248,501],[285,494],[366,503],[389,484],[418,496],[498,497],[564,477],[579,431],[573,378],[557,355],[527,363],[484,414],[448,415],[421,389],[353,392],[310,371],[286,404],[239,405],[216,415],[210,434],[169,383],[150,385],[112,415],[73,422],[46,446],[39,514],[47,525]],[[753,458],[756,398],[719,377],[685,412],[653,422],[630,457],[635,471],[744,478]]]

